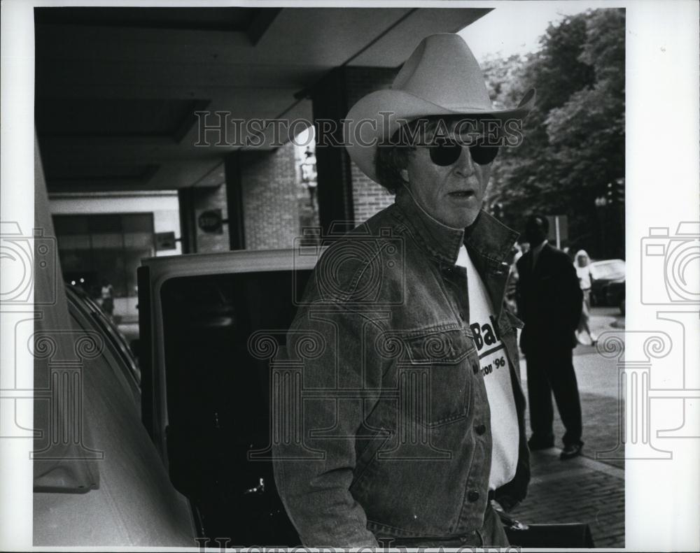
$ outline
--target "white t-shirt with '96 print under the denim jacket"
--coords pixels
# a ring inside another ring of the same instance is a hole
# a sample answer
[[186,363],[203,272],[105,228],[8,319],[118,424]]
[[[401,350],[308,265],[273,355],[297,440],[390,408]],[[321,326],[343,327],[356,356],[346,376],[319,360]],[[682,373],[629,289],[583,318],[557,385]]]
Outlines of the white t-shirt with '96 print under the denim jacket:
[[493,450],[489,489],[497,489],[513,479],[518,462],[518,417],[510,368],[489,294],[464,245],[459,250],[456,264],[467,269],[469,326],[479,352],[479,364],[491,409]]

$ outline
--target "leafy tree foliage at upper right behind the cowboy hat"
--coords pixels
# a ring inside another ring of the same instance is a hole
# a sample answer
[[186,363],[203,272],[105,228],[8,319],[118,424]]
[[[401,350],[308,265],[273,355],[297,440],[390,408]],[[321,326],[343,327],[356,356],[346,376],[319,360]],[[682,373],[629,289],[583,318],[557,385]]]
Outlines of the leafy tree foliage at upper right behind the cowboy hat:
[[[596,211],[595,200],[624,178],[624,10],[589,10],[550,24],[540,47],[482,64],[496,106],[514,106],[537,90],[524,143],[502,148],[493,166],[488,201],[503,206],[514,229],[534,211],[568,215],[572,247],[619,251],[601,244],[600,227],[614,214],[610,206]],[[606,236],[624,247],[622,232]]]

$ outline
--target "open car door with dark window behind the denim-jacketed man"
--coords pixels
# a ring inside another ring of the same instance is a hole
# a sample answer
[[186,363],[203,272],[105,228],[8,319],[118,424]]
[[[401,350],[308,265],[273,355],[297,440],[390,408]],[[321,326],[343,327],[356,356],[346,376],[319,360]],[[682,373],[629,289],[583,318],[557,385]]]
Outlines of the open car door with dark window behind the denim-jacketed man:
[[269,357],[251,340],[283,344],[318,259],[310,250],[153,257],[139,268],[144,424],[202,538],[299,544],[274,487]]

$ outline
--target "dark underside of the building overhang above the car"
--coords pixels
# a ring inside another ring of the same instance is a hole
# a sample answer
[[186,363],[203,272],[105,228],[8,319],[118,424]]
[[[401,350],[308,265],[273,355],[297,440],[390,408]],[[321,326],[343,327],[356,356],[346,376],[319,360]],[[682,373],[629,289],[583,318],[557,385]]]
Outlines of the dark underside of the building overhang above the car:
[[244,141],[197,146],[197,111],[311,120],[300,92],[328,71],[397,68],[423,36],[460,31],[489,11],[36,8],[35,113],[48,190],[219,185],[223,157]]

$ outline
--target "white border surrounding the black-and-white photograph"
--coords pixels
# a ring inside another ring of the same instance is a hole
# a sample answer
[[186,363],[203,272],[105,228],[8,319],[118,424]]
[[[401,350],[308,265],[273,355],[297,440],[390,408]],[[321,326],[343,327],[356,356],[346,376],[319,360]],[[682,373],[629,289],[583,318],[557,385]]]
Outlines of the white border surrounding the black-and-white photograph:
[[[542,0],[546,1],[546,0]],[[571,0],[575,1],[575,0]],[[0,220],[34,226],[34,20],[40,6],[300,6],[444,7],[507,10],[510,1],[34,1],[1,5]],[[536,9],[540,1],[522,0]],[[550,5],[553,2],[547,2]],[[681,222],[700,222],[699,3],[693,0],[580,2],[591,8],[626,8],[626,331],[654,331],[668,305],[643,303],[643,244],[650,229],[673,236]],[[3,265],[2,278],[12,278]],[[688,306],[685,306],[687,309]],[[697,311],[697,306],[689,307]],[[31,311],[31,309],[28,309]],[[13,351],[11,329],[1,328],[0,388],[15,370],[31,381],[29,352]],[[700,319],[685,328],[686,368],[700,370]],[[628,352],[629,353],[629,352]],[[16,357],[15,354],[21,357]],[[31,397],[31,396],[29,396]],[[657,398],[660,396],[657,395]],[[676,396],[678,397],[678,396]],[[700,412],[697,396],[684,398],[689,413]],[[8,403],[8,402],[3,402]],[[33,420],[31,401],[17,403],[17,415]],[[653,403],[653,401],[652,401]],[[10,414],[7,405],[0,417]],[[14,414],[12,414],[14,416]],[[652,412],[652,426],[669,429],[677,417]],[[690,421],[698,424],[698,421]],[[661,434],[659,434],[661,436]],[[658,436],[657,436],[658,437]],[[666,436],[673,459],[626,463],[626,550],[700,549],[700,439]],[[0,440],[0,547],[32,549],[31,440]],[[76,548],[76,550],[85,548]],[[131,550],[132,548],[120,548]],[[193,548],[196,551],[196,548]]]

